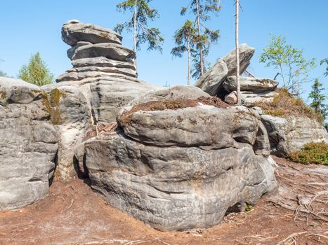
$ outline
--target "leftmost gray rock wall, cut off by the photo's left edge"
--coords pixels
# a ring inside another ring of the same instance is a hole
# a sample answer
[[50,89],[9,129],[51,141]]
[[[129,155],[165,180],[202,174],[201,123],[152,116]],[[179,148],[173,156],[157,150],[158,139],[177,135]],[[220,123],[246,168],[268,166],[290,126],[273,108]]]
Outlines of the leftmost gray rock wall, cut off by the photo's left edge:
[[39,87],[0,78],[0,210],[25,207],[48,194],[58,150],[50,114]]

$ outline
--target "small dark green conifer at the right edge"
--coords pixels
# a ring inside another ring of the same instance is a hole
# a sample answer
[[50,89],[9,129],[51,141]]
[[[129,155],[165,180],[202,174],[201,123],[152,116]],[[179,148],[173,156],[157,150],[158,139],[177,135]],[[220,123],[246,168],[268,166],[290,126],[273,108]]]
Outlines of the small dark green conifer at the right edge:
[[324,121],[328,114],[327,105],[324,104],[327,96],[324,93],[324,87],[322,87],[322,83],[320,83],[318,79],[315,79],[312,85],[312,91],[308,97],[313,99],[310,106],[315,110],[317,114],[322,116],[322,121]]

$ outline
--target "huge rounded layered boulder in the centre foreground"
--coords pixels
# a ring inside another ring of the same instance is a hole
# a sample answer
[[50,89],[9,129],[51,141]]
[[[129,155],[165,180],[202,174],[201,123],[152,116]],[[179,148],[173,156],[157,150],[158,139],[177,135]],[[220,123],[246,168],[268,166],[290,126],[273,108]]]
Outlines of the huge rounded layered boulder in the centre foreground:
[[251,109],[143,104],[118,123],[122,130],[85,143],[91,187],[153,228],[208,228],[277,186],[268,136]]

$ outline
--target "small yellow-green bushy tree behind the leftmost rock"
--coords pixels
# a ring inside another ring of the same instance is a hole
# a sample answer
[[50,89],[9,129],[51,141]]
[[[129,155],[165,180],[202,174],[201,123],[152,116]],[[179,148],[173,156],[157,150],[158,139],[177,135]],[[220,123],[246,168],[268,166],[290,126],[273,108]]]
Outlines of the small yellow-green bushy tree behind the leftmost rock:
[[39,52],[31,56],[29,64],[23,65],[22,68],[20,68],[18,78],[38,86],[53,83],[53,73],[48,70]]

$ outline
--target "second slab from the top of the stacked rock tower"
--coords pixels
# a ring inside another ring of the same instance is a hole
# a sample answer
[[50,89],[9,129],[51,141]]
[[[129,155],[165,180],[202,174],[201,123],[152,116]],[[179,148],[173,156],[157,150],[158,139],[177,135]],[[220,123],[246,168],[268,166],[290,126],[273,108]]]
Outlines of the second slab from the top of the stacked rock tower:
[[72,60],[93,57],[106,57],[121,62],[129,62],[133,64],[136,56],[133,50],[116,43],[97,43],[82,45],[75,49]]

